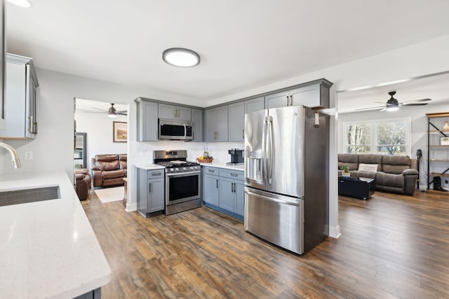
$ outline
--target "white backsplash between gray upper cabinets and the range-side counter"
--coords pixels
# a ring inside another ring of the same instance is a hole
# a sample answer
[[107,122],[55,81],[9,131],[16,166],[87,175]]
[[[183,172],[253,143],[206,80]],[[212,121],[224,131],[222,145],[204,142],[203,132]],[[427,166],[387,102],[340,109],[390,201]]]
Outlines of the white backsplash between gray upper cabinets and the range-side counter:
[[135,164],[152,164],[153,151],[160,150],[187,150],[187,160],[194,161],[203,155],[204,148],[208,148],[209,155],[213,156],[214,162],[231,162],[231,155],[227,152],[231,148],[244,149],[243,142],[186,142],[186,141],[154,141],[137,142],[138,148]]

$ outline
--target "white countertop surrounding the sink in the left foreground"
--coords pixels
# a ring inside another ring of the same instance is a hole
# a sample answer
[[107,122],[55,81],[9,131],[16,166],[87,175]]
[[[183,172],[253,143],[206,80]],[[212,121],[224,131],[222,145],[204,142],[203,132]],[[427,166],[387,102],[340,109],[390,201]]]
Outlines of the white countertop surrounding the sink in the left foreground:
[[73,298],[111,279],[65,171],[0,176],[0,192],[41,186],[60,186],[61,199],[0,207],[1,298]]

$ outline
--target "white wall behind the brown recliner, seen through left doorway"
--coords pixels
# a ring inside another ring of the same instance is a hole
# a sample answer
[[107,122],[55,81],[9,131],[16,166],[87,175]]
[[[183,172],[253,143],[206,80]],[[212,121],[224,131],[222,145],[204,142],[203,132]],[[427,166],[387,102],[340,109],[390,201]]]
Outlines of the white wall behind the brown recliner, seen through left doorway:
[[76,111],[76,132],[86,134],[87,146],[87,167],[91,168],[91,158],[99,154],[108,153],[126,153],[126,142],[114,142],[113,123],[128,122],[127,116],[117,116],[109,118],[105,113],[86,113],[85,111]]

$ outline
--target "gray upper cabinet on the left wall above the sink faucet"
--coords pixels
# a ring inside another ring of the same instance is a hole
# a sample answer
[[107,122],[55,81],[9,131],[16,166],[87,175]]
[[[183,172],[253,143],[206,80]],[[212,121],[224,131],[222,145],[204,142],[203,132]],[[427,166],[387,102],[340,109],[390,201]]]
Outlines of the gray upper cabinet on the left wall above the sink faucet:
[[33,139],[37,134],[36,72],[33,60],[8,54],[6,56],[6,97],[4,102],[6,130],[3,139]]

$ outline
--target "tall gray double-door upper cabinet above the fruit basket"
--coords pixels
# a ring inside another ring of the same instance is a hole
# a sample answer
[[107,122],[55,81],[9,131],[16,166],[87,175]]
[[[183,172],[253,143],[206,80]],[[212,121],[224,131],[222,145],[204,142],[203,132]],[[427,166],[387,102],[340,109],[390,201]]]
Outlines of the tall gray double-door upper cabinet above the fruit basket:
[[227,106],[204,111],[204,141],[227,141]]

